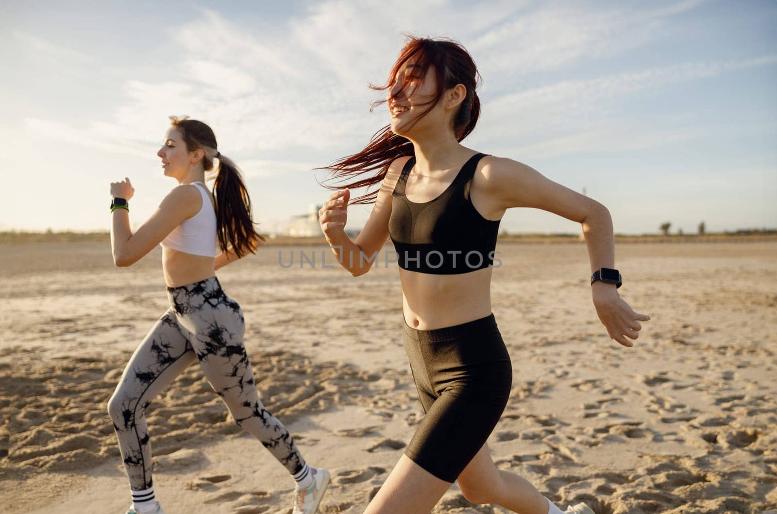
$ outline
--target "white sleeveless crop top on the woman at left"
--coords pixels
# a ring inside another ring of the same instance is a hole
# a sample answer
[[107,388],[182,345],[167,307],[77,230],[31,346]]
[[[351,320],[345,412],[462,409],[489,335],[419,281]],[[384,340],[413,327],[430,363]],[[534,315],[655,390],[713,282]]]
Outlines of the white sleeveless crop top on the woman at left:
[[197,191],[200,191],[202,196],[202,207],[196,215],[184,219],[179,226],[172,229],[159,244],[185,254],[215,257],[219,254],[216,247],[216,212],[211,198],[207,195],[205,184],[200,181],[192,184],[197,184]]

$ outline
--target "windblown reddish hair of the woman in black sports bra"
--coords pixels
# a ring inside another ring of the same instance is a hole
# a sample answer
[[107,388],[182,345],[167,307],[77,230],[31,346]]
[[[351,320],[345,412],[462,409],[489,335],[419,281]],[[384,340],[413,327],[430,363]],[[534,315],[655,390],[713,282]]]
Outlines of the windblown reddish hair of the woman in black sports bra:
[[[399,58],[389,73],[389,80],[383,86],[370,85],[370,88],[376,91],[386,89],[390,91],[395,86],[399,70],[408,61],[413,61],[413,64],[420,67],[419,73],[421,76],[426,75],[430,66],[433,67],[437,82],[437,93],[432,100],[426,103],[429,107],[416,118],[413,124],[434,109],[434,106],[440,101],[446,89],[450,89],[458,84],[465,86],[467,94],[458,108],[453,127],[456,140],[462,141],[475,129],[480,116],[480,99],[475,91],[480,81],[480,75],[475,61],[472,61],[469,52],[461,44],[447,38],[428,39],[411,36],[408,38],[405,46],[402,47],[402,51],[399,52]],[[402,95],[408,87],[409,80],[409,75],[405,74],[398,96]],[[392,96],[392,99],[396,97]],[[373,102],[370,111],[387,101],[378,100]],[[401,135],[394,134],[389,124],[375,132],[370,139],[370,143],[361,152],[343,157],[329,166],[322,166],[316,168],[316,170],[330,170],[333,177],[330,177],[329,180],[340,179],[340,184],[336,186],[322,184],[327,189],[338,190],[345,187],[351,189],[367,187],[382,182],[389,171],[389,166],[395,159],[402,156],[413,156],[413,154],[413,143]],[[374,173],[375,170],[378,170],[378,173]],[[368,176],[361,177],[365,173],[368,173]],[[348,180],[352,181],[348,182]],[[346,184],[343,184],[343,182]],[[378,191],[372,191],[348,203],[369,204],[374,202],[377,196]]]

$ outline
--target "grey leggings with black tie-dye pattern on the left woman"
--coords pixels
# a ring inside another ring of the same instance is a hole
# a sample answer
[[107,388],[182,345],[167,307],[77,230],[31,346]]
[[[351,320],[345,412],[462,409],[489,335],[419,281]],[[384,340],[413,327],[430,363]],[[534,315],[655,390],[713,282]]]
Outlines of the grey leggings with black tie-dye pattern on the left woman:
[[240,306],[225,295],[215,277],[167,288],[167,295],[170,308],[135,350],[108,401],[131,489],[152,486],[145,410],[195,359],[237,424],[259,439],[291,474],[298,473],[305,460],[256,393],[243,344],[246,325]]

